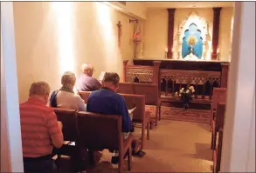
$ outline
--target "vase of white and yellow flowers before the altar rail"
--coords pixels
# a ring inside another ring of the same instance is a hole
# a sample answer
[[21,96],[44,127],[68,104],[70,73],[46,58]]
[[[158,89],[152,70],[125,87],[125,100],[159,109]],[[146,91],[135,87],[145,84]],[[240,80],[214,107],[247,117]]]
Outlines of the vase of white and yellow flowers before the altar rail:
[[179,96],[183,101],[183,108],[187,110],[189,108],[190,101],[194,97],[195,89],[193,86],[190,86],[187,90],[182,88],[176,92],[176,96]]

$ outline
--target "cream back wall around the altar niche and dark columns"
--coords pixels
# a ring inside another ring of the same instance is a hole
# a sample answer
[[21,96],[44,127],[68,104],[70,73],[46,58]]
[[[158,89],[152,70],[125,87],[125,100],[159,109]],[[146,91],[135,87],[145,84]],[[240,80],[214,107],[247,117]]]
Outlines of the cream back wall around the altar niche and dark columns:
[[[212,8],[176,9],[174,19],[174,37],[176,37],[178,23],[183,22],[184,18],[189,17],[192,10],[195,10],[199,17],[202,17],[209,22],[209,33],[212,39]],[[222,46],[220,49],[222,61],[227,61],[229,59],[227,55],[230,51],[231,20],[232,8],[223,8],[220,16],[220,34],[218,41],[219,46]],[[147,10],[147,21],[145,22],[144,33],[144,57],[163,59],[165,56],[164,49],[167,47],[168,42],[168,11],[166,9]]]

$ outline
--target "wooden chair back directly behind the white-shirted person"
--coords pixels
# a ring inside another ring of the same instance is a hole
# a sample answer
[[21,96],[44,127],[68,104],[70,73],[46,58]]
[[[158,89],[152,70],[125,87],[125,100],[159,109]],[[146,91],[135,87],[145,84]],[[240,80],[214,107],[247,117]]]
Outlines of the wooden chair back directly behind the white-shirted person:
[[57,119],[63,124],[62,133],[65,141],[76,141],[76,110],[53,108]]

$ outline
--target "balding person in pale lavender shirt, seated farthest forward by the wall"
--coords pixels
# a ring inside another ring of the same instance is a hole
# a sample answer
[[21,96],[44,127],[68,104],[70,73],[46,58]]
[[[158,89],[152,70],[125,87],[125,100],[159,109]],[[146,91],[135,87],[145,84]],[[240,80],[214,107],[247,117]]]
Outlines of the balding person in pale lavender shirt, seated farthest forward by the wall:
[[84,63],[81,66],[82,74],[76,84],[78,91],[100,90],[100,82],[93,77],[93,66],[90,63]]

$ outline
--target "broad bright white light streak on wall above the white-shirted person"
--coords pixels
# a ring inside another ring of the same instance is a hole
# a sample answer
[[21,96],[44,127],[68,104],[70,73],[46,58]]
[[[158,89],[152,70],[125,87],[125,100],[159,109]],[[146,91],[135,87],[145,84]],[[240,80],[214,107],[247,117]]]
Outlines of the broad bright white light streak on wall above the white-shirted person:
[[73,2],[52,2],[52,10],[59,37],[60,72],[73,71]]

